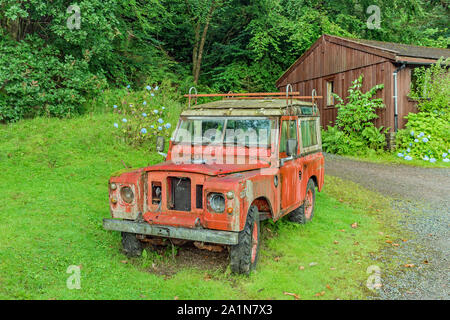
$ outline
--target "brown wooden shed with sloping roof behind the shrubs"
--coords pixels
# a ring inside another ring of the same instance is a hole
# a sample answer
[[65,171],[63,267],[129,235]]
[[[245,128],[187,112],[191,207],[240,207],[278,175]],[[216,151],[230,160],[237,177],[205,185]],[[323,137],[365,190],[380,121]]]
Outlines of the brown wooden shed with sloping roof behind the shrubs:
[[364,74],[363,92],[384,84],[377,93],[385,109],[377,111],[376,126],[396,132],[405,126],[409,112],[417,112],[416,102],[409,99],[412,69],[435,63],[450,56],[450,50],[399,43],[349,39],[322,35],[277,80],[280,91],[291,84],[294,91],[310,95],[312,89],[323,96],[318,102],[322,126],[333,125],[337,116],[331,93],[345,98],[351,82]]

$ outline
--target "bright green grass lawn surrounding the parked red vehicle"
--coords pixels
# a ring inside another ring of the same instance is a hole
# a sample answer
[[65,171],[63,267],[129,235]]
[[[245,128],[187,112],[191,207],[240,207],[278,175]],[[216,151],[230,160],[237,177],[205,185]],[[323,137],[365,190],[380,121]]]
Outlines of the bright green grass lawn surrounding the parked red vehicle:
[[[176,118],[173,114],[171,117]],[[123,167],[162,160],[113,138],[112,115],[38,118],[0,126],[1,299],[356,299],[369,294],[371,253],[384,243],[387,201],[355,184],[326,177],[314,221],[265,222],[259,265],[249,278],[229,269],[154,263],[170,255],[127,259],[109,217],[107,180]],[[357,227],[351,224],[357,222]],[[184,248],[177,248],[180,252]],[[81,289],[66,273],[81,266]],[[173,265],[172,265],[173,267]]]

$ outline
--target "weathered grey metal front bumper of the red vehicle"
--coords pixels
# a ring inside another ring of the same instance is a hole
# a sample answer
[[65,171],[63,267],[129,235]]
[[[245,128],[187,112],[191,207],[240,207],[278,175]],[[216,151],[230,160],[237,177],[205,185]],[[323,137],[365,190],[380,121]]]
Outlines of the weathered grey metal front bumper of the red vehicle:
[[191,241],[211,242],[234,245],[238,243],[238,233],[211,229],[190,229],[171,226],[156,226],[147,222],[135,222],[120,219],[103,219],[106,230],[122,231],[149,236],[184,239]]

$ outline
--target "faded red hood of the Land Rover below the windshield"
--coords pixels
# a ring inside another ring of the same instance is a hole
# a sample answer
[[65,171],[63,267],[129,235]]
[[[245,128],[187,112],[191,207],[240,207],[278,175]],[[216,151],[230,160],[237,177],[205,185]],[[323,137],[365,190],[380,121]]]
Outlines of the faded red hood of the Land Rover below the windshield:
[[147,172],[151,171],[191,172],[204,174],[208,176],[217,176],[268,167],[270,167],[270,164],[268,162],[263,161],[245,164],[175,163],[173,161],[166,161],[157,165],[146,167],[144,170]]

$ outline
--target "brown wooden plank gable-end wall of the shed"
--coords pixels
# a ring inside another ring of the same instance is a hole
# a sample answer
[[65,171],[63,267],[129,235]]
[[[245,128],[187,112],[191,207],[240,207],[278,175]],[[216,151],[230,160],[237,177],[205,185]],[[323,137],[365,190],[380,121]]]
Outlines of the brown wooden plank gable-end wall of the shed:
[[329,41],[319,41],[315,48],[302,57],[302,61],[294,66],[289,74],[279,82],[279,89],[286,90],[288,83],[302,95],[311,95],[316,89],[323,99],[318,102],[321,112],[322,126],[333,125],[337,116],[336,107],[326,105],[326,82],[332,79],[334,93],[345,98],[351,82],[364,74],[363,91],[367,91],[376,84],[384,84],[383,90],[377,93],[383,98],[386,109],[378,110],[377,126],[394,128],[393,83],[392,72],[394,65],[385,57],[348,48]]

